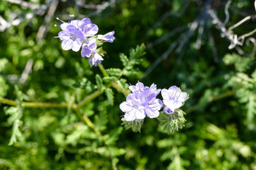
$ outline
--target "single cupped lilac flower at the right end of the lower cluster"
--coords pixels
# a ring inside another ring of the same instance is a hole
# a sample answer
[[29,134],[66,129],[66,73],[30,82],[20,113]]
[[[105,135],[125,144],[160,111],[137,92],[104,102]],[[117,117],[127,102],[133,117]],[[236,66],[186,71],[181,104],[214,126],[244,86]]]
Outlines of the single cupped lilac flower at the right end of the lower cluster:
[[173,85],[168,90],[161,90],[163,103],[165,105],[164,112],[167,114],[174,113],[175,109],[180,108],[187,99],[186,92],[180,92],[178,87]]

